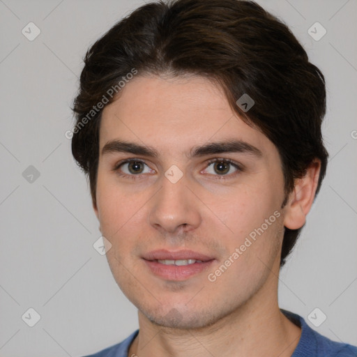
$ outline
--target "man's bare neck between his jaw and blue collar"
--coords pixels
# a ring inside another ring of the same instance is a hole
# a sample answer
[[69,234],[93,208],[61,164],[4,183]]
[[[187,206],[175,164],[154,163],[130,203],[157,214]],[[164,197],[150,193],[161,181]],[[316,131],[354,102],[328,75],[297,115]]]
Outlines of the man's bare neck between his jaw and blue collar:
[[[278,280],[273,274],[271,278]],[[138,314],[139,334],[129,357],[290,357],[301,336],[301,328],[280,312],[278,281],[265,284],[243,306],[203,328],[167,328]]]

